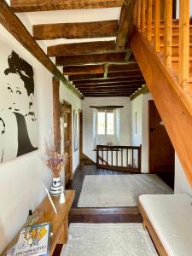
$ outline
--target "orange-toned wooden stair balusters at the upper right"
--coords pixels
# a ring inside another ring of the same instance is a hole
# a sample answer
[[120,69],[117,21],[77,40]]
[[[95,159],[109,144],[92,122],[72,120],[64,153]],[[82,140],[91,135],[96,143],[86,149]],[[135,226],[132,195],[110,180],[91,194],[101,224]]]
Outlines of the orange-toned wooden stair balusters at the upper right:
[[[173,0],[137,0],[134,23],[152,43],[156,52],[162,50],[166,67],[176,69],[178,83],[184,90],[191,92],[189,86],[189,0],[179,0],[179,20],[172,18],[173,4]],[[175,52],[177,55],[173,55]]]

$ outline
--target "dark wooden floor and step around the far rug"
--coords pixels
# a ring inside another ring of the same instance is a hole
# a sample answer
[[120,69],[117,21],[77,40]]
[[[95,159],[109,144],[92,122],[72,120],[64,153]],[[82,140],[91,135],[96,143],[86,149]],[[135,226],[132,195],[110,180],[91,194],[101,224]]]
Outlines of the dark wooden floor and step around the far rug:
[[[69,212],[70,223],[142,223],[143,219],[137,207],[113,207],[113,208],[78,208],[79,195],[82,189],[85,175],[122,175],[129,172],[115,172],[110,170],[96,169],[96,166],[82,165],[73,178],[67,183],[66,189],[75,189],[75,199]],[[134,175],[134,174],[132,174]],[[172,186],[174,178],[165,175],[161,177],[167,184]],[[103,184],[104,185],[104,184]],[[55,247],[53,256],[61,253],[62,245]]]

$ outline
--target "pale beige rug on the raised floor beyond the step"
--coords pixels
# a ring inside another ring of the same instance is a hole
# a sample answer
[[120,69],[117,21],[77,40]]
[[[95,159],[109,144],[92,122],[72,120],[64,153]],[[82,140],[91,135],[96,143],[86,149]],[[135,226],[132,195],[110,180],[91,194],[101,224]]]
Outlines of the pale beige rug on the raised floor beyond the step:
[[89,175],[78,207],[137,207],[143,194],[172,194],[172,189],[154,174]]

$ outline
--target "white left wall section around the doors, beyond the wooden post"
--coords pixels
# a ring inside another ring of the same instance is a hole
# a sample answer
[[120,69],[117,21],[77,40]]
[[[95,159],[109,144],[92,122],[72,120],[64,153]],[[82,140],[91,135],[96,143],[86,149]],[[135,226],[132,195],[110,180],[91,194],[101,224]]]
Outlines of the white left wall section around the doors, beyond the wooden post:
[[[66,86],[62,83],[60,84],[60,101],[70,103],[72,105],[72,144],[73,144],[73,110],[78,113],[78,127],[79,127],[79,109],[82,109],[82,101],[78,96],[75,96],[71,90],[68,90]],[[74,152],[74,144],[73,144],[73,172],[76,167],[79,165],[79,147],[78,150]]]

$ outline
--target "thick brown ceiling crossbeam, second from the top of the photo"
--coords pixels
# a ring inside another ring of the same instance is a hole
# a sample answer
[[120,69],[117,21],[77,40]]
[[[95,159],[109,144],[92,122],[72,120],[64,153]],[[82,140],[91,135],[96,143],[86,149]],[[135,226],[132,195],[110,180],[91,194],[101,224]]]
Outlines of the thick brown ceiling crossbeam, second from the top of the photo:
[[116,37],[118,20],[41,24],[32,26],[32,32],[36,40]]

